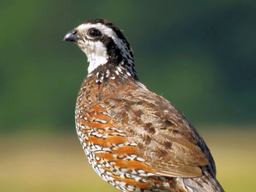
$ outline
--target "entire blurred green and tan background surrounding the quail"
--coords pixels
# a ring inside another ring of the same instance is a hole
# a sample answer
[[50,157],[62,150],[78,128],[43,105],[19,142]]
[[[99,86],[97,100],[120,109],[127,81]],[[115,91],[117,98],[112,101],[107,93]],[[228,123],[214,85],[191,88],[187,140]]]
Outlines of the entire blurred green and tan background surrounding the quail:
[[116,191],[74,130],[88,63],[63,37],[93,18],[124,30],[140,81],[206,138],[225,190],[253,191],[256,3],[237,0],[1,2],[0,191]]

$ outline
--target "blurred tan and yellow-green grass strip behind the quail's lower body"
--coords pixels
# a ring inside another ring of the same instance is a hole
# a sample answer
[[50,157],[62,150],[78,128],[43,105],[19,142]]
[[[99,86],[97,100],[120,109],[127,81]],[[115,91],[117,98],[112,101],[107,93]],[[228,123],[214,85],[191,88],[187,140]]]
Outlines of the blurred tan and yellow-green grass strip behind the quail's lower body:
[[[225,191],[253,191],[256,130],[199,131],[216,160]],[[118,191],[88,165],[75,133],[19,134],[0,138],[0,191]]]

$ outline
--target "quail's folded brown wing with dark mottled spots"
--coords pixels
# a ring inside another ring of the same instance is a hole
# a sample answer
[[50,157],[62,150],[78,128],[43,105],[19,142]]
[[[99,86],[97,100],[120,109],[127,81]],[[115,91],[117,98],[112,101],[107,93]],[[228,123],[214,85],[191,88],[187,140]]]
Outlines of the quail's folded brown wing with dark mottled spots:
[[139,156],[154,168],[156,174],[196,177],[202,174],[201,166],[212,166],[215,175],[209,149],[173,105],[139,82],[122,91],[111,96],[118,107],[107,109],[112,124],[125,130],[130,142],[137,143]]

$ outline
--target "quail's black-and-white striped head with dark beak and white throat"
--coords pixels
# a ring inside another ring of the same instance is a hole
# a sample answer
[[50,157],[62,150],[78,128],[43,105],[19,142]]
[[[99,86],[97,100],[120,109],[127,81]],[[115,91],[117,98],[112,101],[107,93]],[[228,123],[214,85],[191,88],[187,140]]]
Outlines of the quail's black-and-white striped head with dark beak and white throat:
[[134,60],[129,42],[110,21],[95,19],[86,21],[69,31],[64,40],[78,44],[88,57],[88,73],[103,65],[127,68],[135,76]]

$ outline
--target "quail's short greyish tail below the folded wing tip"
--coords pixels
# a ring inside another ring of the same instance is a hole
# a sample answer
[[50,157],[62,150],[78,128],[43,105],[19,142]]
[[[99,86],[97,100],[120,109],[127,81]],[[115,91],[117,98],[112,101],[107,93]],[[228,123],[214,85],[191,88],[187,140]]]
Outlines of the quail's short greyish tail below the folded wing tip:
[[225,192],[218,180],[209,173],[194,178],[178,178],[187,192]]

